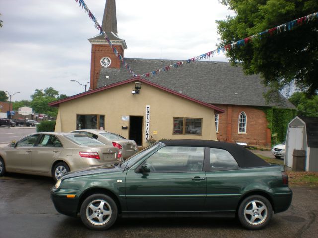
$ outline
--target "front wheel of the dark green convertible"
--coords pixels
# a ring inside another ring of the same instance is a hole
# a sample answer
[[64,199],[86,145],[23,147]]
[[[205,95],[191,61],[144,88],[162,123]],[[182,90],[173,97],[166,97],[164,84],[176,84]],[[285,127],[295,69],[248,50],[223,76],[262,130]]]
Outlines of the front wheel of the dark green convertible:
[[114,200],[105,194],[87,197],[80,207],[80,218],[92,230],[107,230],[117,219],[118,208]]

